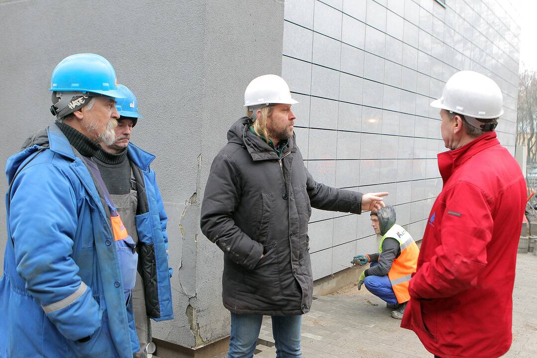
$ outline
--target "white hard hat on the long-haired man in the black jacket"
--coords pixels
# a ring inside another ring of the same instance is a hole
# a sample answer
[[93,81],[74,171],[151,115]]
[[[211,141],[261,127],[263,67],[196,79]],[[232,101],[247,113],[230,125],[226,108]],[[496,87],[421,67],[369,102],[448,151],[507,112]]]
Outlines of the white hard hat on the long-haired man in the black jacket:
[[244,107],[254,107],[269,104],[298,103],[291,98],[289,86],[283,78],[277,75],[263,75],[252,79],[244,91]]

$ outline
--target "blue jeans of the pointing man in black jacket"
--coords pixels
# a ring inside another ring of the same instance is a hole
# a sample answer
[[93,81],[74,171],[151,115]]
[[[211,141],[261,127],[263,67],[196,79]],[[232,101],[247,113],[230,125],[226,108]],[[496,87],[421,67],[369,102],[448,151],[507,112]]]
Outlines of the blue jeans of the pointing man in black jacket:
[[[277,358],[301,358],[300,327],[302,316],[271,316],[272,335]],[[231,337],[228,358],[251,358],[263,321],[262,315],[231,312]]]

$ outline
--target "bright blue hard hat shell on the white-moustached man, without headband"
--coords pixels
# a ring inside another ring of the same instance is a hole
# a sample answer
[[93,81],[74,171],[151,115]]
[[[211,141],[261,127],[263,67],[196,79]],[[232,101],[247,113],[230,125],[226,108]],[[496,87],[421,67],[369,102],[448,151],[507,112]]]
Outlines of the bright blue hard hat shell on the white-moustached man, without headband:
[[96,54],[76,54],[56,65],[50,78],[49,91],[92,92],[124,98],[118,91],[118,80],[112,64]]

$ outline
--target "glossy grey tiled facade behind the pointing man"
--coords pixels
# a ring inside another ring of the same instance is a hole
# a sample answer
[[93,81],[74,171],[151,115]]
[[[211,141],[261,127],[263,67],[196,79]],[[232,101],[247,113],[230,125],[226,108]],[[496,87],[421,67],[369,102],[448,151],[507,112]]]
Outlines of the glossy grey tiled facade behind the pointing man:
[[[520,28],[511,8],[509,0],[286,0],[282,77],[300,101],[297,141],[316,180],[389,192],[397,222],[421,239],[446,150],[429,104],[454,72],[498,83],[505,114],[496,131],[514,154]],[[378,250],[370,223],[367,213],[314,209],[314,278]]]

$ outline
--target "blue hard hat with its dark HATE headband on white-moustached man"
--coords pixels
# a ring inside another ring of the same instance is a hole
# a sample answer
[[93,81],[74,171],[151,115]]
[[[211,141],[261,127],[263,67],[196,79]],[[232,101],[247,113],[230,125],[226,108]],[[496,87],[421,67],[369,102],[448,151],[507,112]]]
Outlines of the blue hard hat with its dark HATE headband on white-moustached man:
[[56,65],[50,77],[50,112],[59,119],[83,107],[95,96],[124,98],[112,64],[96,54],[75,54]]

